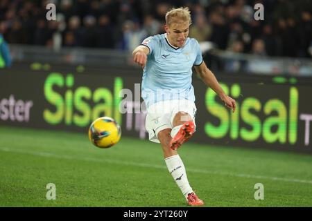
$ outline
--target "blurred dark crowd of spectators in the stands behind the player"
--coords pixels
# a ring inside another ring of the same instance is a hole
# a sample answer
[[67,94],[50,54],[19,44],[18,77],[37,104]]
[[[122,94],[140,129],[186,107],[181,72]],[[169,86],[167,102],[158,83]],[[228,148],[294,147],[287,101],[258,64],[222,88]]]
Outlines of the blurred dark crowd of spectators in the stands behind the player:
[[[46,20],[54,3],[57,20]],[[254,19],[254,5],[264,20]],[[311,57],[311,0],[1,0],[0,33],[9,44],[133,50],[164,32],[172,7],[187,6],[189,37],[254,55]]]

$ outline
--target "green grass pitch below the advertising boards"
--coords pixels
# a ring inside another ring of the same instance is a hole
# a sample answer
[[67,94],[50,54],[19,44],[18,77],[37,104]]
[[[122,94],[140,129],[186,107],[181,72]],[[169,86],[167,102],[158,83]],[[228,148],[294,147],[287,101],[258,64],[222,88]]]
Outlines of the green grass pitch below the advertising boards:
[[[312,206],[312,156],[187,143],[179,149],[205,206]],[[56,199],[46,200],[46,184]],[[254,184],[264,187],[255,200]],[[0,126],[0,206],[187,206],[159,144]]]

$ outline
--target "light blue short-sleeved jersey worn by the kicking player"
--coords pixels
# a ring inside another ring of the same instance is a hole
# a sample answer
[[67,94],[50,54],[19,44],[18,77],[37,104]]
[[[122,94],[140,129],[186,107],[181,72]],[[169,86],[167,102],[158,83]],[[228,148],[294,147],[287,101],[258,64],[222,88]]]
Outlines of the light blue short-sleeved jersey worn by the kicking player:
[[202,64],[198,41],[187,38],[184,47],[174,48],[162,34],[148,37],[142,45],[150,49],[141,86],[146,107],[168,99],[195,101],[192,66]]

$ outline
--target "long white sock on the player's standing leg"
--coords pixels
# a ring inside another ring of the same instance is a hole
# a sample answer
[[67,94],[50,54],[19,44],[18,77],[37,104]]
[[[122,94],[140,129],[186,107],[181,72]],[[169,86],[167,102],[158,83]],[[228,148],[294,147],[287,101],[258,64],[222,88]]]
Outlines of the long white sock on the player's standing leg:
[[185,198],[193,190],[187,180],[187,171],[185,170],[184,164],[179,155],[173,155],[165,159],[169,173],[171,173],[173,180],[175,180],[177,186],[179,186]]

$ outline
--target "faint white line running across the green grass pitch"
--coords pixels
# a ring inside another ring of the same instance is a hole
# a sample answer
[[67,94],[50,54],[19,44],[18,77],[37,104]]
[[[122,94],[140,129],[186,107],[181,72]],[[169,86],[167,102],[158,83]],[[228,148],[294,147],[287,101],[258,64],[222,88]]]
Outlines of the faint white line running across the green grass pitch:
[[[3,152],[10,152],[10,153],[21,153],[21,154],[28,154],[28,155],[37,155],[41,157],[53,157],[58,159],[65,159],[65,160],[83,160],[88,162],[107,162],[112,164],[123,164],[128,166],[141,166],[141,167],[151,167],[155,169],[167,169],[166,166],[161,165],[153,165],[153,164],[144,164],[138,162],[127,162],[121,160],[108,160],[108,159],[96,159],[92,157],[72,157],[67,155],[58,155],[55,153],[46,153],[46,152],[33,152],[33,151],[23,151],[12,149],[8,147],[0,147],[0,151]],[[215,174],[215,175],[227,175],[233,177],[243,177],[243,178],[252,178],[252,179],[264,179],[264,180],[274,180],[274,181],[282,181],[282,182],[297,182],[303,184],[312,184],[312,180],[300,180],[300,179],[291,179],[291,178],[282,178],[282,177],[268,177],[263,175],[252,175],[252,174],[244,174],[244,173],[227,173],[227,172],[220,172],[220,171],[205,171],[199,169],[187,169],[188,172],[191,173],[204,173],[204,174]]]

